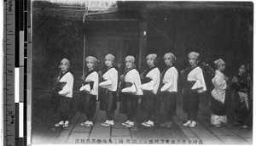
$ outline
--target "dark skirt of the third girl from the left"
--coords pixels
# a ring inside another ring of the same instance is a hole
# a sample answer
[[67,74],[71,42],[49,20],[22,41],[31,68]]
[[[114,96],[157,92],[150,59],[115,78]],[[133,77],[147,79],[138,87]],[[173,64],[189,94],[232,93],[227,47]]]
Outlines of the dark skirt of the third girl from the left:
[[100,98],[100,110],[111,111],[117,108],[116,92],[105,90],[105,94]]

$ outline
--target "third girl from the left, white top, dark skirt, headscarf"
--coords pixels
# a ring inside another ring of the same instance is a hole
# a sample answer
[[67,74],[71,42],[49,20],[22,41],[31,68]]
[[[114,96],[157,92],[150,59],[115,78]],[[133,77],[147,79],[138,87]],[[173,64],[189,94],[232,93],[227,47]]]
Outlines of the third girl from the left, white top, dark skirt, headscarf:
[[105,101],[101,101],[101,110],[106,110],[107,121],[102,126],[113,126],[114,110],[117,107],[117,87],[118,87],[118,71],[113,66],[114,56],[111,53],[105,56],[105,65],[108,70],[103,74],[102,81],[99,86],[106,89]]

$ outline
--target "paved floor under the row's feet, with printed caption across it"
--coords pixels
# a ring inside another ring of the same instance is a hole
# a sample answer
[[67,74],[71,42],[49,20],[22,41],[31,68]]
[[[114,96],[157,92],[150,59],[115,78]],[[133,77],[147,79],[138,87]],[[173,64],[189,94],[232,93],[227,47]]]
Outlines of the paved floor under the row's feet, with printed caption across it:
[[[94,119],[94,126],[84,127],[80,123],[86,116],[79,111],[75,112],[70,126],[63,128],[54,126],[42,127],[32,131],[33,143],[203,143],[203,144],[252,144],[253,131],[241,126],[214,127],[210,125],[209,106],[201,101],[198,113],[198,125],[195,127],[183,126],[186,114],[177,102],[177,115],[174,116],[172,128],[160,126],[144,127],[142,122],[145,113],[137,114],[136,126],[128,128],[121,123],[126,121],[126,116],[119,114],[116,110],[114,126],[101,126],[106,120],[105,112],[98,110]],[[118,106],[119,107],[119,106]],[[43,130],[42,130],[43,129]],[[47,131],[48,129],[48,131]],[[44,132],[45,131],[45,132]]]

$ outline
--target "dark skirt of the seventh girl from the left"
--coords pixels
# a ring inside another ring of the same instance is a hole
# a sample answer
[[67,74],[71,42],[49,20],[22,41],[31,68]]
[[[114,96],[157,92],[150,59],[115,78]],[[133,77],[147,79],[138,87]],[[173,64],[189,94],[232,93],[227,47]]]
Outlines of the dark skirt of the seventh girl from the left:
[[194,82],[187,81],[183,89],[183,110],[186,113],[197,113],[199,109],[199,93],[192,90]]

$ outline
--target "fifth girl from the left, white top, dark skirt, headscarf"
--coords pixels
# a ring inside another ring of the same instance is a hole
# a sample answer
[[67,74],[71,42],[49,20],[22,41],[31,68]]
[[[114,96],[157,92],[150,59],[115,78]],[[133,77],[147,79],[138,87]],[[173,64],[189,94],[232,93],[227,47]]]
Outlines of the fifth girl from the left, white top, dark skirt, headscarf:
[[146,57],[148,69],[143,73],[143,102],[146,107],[146,121],[143,126],[154,126],[154,113],[156,103],[156,93],[160,85],[160,70],[155,66],[157,63],[157,55],[155,53],[148,54]]

